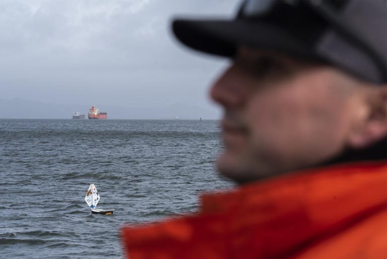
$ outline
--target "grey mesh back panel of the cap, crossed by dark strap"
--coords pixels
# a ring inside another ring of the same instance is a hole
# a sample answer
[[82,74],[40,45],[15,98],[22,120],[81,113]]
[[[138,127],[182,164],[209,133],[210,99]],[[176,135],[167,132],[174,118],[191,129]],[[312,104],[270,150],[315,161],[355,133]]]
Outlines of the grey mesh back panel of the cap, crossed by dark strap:
[[[343,10],[342,18],[367,40],[384,61],[387,60],[387,1],[351,1]],[[360,78],[373,83],[381,82],[375,63],[333,31],[321,37],[316,51]]]

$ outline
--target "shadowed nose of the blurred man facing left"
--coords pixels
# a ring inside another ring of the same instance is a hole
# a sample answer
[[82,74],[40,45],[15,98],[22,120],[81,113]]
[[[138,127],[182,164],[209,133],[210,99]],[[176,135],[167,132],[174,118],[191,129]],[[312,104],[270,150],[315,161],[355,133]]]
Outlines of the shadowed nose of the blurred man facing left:
[[247,97],[246,83],[243,73],[233,65],[213,83],[210,96],[226,108],[241,106]]

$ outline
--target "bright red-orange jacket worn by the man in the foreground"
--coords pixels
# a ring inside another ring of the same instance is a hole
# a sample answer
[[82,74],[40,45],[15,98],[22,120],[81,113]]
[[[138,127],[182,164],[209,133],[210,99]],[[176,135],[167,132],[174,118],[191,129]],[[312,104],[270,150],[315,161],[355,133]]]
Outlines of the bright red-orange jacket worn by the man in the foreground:
[[131,259],[385,259],[387,163],[289,174],[204,195],[200,213],[124,227]]

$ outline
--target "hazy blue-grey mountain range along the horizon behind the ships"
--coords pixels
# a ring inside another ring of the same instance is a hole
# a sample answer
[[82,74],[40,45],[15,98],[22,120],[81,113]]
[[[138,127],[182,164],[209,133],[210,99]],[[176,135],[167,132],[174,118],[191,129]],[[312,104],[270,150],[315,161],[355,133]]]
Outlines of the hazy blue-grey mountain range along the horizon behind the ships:
[[[218,119],[220,112],[211,108],[188,106],[184,103],[161,108],[124,108],[98,103],[89,105],[61,105],[26,99],[0,99],[1,119],[71,119],[75,111],[87,115],[94,105],[106,112],[108,119]],[[87,116],[86,116],[87,117]]]

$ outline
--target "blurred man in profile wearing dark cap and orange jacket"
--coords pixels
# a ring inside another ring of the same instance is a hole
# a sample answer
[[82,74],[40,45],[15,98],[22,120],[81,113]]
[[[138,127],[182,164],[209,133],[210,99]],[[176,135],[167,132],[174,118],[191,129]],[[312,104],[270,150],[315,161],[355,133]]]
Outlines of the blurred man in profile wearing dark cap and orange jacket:
[[218,171],[238,188],[198,214],[122,230],[137,258],[387,257],[387,1],[247,0],[173,22],[231,59]]

